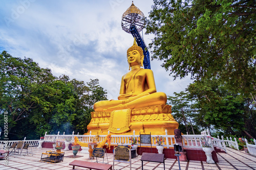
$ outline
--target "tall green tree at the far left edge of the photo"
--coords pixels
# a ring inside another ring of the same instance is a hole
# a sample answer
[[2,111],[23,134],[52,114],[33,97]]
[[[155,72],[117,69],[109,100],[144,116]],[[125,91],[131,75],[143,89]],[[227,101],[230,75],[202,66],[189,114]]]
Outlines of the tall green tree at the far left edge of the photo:
[[0,61],[0,111],[8,112],[10,132],[40,102],[35,90],[54,77],[50,69],[40,68],[30,58],[15,58],[3,51]]

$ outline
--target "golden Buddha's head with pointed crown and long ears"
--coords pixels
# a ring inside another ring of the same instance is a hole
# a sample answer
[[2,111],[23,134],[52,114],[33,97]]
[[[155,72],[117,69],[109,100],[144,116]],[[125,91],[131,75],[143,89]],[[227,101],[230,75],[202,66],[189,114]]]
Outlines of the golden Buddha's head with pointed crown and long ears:
[[129,70],[130,70],[130,67],[133,65],[143,66],[143,60],[144,60],[143,50],[140,46],[137,45],[136,40],[134,38],[133,46],[131,46],[127,50],[127,61],[129,63]]

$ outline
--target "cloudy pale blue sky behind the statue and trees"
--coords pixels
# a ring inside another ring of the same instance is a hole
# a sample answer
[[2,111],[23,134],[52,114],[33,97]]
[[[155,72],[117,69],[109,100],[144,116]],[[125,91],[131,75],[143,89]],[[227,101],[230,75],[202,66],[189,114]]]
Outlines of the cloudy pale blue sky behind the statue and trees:
[[[126,51],[133,44],[133,36],[121,28],[121,16],[132,1],[0,2],[1,52],[32,58],[57,77],[64,74],[84,82],[99,79],[108,99],[117,99],[121,77],[129,71]],[[153,1],[135,0],[134,5],[147,17]],[[154,35],[143,37],[148,44]],[[157,91],[173,95],[185,90],[190,78],[174,81],[161,63],[151,61]]]

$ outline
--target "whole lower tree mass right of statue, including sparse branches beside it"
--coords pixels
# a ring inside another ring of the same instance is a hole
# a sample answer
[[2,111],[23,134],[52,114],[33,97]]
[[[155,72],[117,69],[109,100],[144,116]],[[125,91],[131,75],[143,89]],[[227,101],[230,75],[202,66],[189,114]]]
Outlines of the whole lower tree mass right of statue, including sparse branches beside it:
[[[186,92],[168,96],[179,129],[189,132],[191,118],[196,130],[212,129],[215,134],[255,138],[256,108],[249,98],[233,93],[218,80],[191,83]],[[184,126],[187,128],[185,129]]]

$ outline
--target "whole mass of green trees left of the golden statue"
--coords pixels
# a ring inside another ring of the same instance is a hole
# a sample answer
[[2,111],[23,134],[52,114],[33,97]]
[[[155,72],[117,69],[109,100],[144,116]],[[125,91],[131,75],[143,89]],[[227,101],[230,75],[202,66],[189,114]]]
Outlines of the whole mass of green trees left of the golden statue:
[[35,138],[46,131],[83,134],[92,103],[106,100],[98,79],[85,84],[65,75],[57,78],[32,59],[12,57],[5,51],[0,61],[0,123],[7,111],[9,139]]

